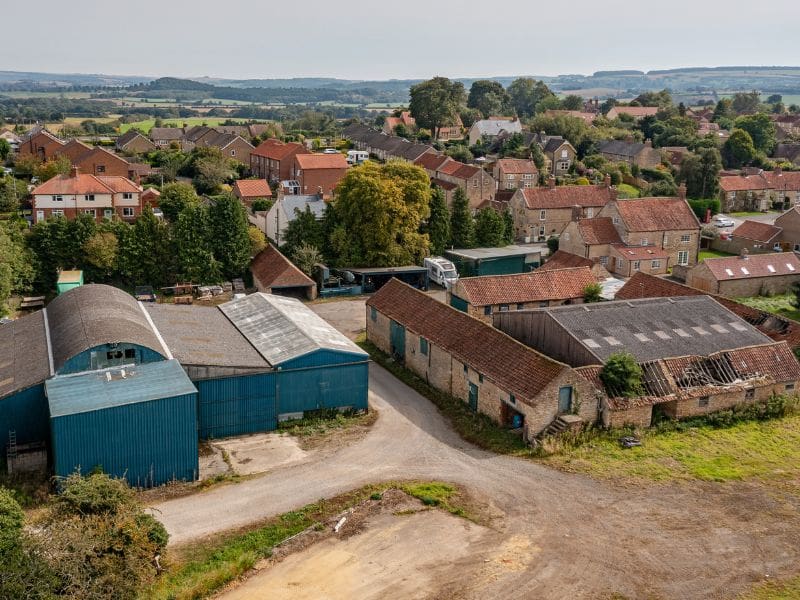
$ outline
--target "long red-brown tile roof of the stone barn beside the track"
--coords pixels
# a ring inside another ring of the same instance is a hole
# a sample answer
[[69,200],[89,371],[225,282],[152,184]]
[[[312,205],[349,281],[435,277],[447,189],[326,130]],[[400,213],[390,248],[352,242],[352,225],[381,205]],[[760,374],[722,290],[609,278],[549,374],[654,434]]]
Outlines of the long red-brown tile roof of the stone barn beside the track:
[[384,285],[367,306],[425,337],[527,403],[569,368],[398,279]]

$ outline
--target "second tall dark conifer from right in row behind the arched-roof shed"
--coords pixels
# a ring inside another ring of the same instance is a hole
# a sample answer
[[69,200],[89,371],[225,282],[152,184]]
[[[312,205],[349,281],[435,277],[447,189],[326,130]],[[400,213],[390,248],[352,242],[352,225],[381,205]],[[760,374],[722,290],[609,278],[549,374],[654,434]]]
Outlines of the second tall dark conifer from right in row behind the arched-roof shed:
[[216,283],[222,280],[220,264],[214,258],[208,208],[189,205],[178,215],[172,228],[178,259],[178,273],[186,281]]

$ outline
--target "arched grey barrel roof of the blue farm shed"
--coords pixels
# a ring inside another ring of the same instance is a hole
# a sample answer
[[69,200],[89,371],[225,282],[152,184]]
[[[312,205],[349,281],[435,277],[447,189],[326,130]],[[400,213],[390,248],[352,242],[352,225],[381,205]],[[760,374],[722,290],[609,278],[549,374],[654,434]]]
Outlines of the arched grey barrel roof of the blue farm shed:
[[101,344],[138,344],[165,354],[140,304],[115,287],[73,288],[47,306],[47,317],[56,372],[73,356]]

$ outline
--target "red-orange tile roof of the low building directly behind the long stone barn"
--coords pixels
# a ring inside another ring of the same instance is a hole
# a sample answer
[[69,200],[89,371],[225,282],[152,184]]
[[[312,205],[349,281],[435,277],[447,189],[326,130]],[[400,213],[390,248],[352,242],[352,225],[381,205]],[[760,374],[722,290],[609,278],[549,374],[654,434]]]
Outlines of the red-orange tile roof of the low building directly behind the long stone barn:
[[473,306],[517,304],[583,298],[584,288],[597,279],[589,267],[533,271],[514,275],[465,277],[456,291]]

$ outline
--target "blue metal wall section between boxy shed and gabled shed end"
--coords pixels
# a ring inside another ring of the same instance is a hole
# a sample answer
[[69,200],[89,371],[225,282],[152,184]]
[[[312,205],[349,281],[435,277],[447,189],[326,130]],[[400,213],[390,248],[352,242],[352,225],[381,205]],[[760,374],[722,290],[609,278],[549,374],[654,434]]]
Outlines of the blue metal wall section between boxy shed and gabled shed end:
[[243,375],[194,382],[202,439],[223,438],[278,427],[275,374]]

